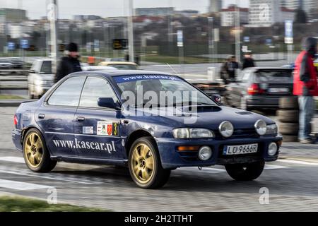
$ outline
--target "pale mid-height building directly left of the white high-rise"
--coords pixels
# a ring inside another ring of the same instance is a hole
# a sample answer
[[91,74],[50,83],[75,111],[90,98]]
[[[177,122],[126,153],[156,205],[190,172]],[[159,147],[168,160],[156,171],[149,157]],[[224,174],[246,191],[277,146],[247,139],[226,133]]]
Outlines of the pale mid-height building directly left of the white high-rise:
[[[239,8],[240,10],[240,24],[249,23],[249,9]],[[235,19],[238,18],[239,12],[236,6],[229,6],[228,8],[223,8],[220,11],[220,19],[222,27],[232,27],[235,25]]]

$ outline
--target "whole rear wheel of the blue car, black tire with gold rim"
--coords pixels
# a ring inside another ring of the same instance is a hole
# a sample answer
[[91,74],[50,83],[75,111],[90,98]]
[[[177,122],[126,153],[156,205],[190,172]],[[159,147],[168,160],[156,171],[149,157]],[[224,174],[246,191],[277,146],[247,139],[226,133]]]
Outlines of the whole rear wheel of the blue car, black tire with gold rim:
[[23,157],[25,164],[33,172],[50,172],[57,165],[57,161],[51,160],[45,139],[37,129],[30,129],[25,134]]

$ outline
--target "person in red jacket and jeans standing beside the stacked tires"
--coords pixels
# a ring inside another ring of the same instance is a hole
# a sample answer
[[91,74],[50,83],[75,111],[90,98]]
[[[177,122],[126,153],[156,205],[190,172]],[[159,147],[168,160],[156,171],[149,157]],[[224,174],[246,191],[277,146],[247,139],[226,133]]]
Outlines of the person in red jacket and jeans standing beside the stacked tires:
[[310,136],[311,121],[314,116],[314,96],[318,96],[317,69],[314,67],[314,55],[317,53],[317,40],[306,37],[304,50],[295,61],[293,93],[298,95],[300,107],[299,134],[301,143],[315,143]]

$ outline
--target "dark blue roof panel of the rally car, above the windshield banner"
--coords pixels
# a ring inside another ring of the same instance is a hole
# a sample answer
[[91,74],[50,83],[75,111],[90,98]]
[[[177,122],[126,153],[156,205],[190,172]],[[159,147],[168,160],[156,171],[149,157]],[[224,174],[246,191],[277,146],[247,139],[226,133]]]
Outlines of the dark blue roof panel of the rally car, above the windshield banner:
[[[71,73],[70,76],[78,75],[98,75],[104,76],[105,78],[115,77],[115,76],[142,76],[142,75],[165,75],[165,76],[175,76],[170,73],[158,72],[158,71],[143,71],[143,70],[114,70],[114,71],[81,71],[76,73]],[[177,76],[176,76],[177,77]]]

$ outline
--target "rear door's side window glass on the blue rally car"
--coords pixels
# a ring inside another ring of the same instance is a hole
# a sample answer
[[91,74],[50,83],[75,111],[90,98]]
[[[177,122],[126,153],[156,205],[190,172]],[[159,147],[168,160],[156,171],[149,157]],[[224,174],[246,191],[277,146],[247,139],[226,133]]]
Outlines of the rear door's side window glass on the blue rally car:
[[64,81],[49,97],[49,105],[77,107],[85,76],[72,77]]

